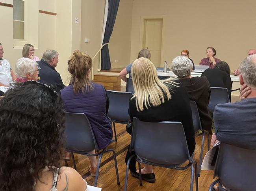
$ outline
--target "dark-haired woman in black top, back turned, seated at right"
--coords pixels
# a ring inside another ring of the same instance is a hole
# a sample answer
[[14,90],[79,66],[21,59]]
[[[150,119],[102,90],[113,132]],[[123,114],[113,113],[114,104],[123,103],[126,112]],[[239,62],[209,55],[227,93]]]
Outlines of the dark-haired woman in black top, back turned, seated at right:
[[220,61],[214,66],[214,69],[206,69],[202,76],[206,76],[211,87],[226,87],[229,100],[231,100],[231,78],[228,63]]

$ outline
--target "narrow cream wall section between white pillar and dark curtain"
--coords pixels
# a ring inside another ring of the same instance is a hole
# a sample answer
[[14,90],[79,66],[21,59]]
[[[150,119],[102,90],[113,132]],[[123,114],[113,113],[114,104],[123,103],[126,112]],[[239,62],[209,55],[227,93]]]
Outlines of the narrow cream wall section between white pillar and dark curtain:
[[[81,51],[87,52],[93,58],[101,47],[105,0],[82,0],[81,9]],[[85,43],[85,38],[89,38],[90,42]],[[94,63],[94,73],[96,74],[99,63],[98,56]]]

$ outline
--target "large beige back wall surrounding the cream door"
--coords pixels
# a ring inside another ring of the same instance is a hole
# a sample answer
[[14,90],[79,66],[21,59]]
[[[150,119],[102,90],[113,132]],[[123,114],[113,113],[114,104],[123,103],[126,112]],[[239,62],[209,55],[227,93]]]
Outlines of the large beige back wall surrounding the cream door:
[[134,0],[132,10],[131,60],[137,56],[141,18],[163,15],[163,60],[168,64],[188,49],[195,64],[206,57],[206,47],[215,47],[216,58],[236,69],[256,48],[255,0],[170,1]]

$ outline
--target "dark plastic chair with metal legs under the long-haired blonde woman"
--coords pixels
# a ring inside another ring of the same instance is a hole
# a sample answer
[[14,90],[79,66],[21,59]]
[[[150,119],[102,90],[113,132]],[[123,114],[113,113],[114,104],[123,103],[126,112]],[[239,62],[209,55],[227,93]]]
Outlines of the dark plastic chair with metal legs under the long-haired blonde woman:
[[[146,133],[145,133],[146,132]],[[193,190],[195,173],[196,190],[198,191],[197,162],[189,155],[186,136],[180,122],[142,122],[133,118],[130,152],[136,153],[139,163],[139,182],[142,186],[141,163],[171,169],[183,170],[191,167],[190,191]],[[124,190],[127,189],[128,171],[132,155],[127,162]],[[189,161],[186,166],[180,167]],[[195,169],[193,164],[195,164]]]

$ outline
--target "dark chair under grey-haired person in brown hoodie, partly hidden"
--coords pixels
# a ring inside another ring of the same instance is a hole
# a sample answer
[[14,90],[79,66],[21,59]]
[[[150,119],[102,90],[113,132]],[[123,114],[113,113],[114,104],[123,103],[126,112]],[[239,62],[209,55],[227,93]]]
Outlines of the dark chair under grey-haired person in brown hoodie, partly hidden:
[[202,156],[203,156],[203,151],[204,151],[204,136],[207,135],[207,149],[208,149],[208,151],[210,149],[210,138],[209,138],[208,131],[204,131],[204,129],[202,129],[201,120],[200,120],[200,116],[199,116],[199,113],[198,113],[196,102],[190,100],[189,103],[190,103],[190,107],[191,107],[191,110],[192,110],[194,131],[195,132],[197,132],[199,130],[202,131],[202,133],[198,133],[197,135],[195,135],[195,136],[202,135],[201,152],[200,152],[200,159],[199,159],[199,164],[198,164],[198,177],[200,177]]

